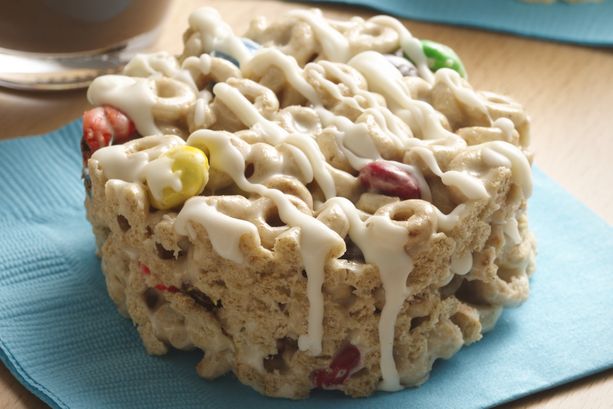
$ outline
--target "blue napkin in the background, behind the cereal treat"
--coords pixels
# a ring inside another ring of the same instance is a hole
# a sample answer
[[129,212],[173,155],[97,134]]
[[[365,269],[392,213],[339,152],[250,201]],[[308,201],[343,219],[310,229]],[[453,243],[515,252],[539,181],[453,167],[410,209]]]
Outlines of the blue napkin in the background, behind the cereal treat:
[[[300,0],[304,1],[304,0]],[[570,5],[521,0],[306,0],[363,6],[399,17],[590,46],[613,46],[613,0]]]

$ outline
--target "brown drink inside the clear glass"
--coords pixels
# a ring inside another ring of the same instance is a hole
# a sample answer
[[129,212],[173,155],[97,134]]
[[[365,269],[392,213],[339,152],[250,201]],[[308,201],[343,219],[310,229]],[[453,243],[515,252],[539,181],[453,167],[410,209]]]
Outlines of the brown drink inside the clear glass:
[[125,44],[155,29],[170,0],[0,0],[0,48],[73,53]]

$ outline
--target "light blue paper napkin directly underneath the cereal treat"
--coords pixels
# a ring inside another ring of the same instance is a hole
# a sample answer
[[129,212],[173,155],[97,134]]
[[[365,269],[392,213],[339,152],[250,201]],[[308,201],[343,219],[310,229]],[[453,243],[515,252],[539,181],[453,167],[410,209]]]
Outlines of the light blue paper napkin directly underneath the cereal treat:
[[532,294],[416,389],[352,400],[260,396],[145,353],[107,296],[80,181],[80,123],[0,143],[0,358],[54,408],[481,408],[613,366],[613,229],[535,170]]

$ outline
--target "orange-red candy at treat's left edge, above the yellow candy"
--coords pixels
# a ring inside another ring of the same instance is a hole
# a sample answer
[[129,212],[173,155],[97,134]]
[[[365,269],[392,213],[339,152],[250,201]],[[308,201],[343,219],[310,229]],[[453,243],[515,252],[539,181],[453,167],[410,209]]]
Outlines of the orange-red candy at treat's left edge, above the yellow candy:
[[83,113],[83,161],[100,148],[127,142],[136,132],[134,122],[123,112],[110,107],[97,107]]

